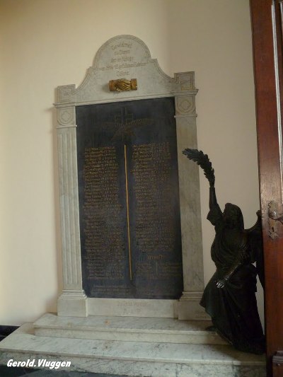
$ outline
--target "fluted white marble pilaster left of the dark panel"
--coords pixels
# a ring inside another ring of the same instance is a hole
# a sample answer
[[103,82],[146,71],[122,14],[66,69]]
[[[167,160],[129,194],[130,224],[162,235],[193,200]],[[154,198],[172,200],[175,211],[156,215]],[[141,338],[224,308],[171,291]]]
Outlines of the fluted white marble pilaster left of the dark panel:
[[87,298],[82,289],[79,233],[79,194],[76,163],[75,107],[57,112],[60,216],[62,229],[63,292],[58,298],[58,315],[87,315]]

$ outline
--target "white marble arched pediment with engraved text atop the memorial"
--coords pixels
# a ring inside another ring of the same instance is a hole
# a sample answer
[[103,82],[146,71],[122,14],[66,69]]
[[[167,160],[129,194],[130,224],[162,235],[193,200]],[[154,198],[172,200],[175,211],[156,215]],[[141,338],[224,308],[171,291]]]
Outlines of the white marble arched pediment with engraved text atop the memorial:
[[[137,91],[111,92],[109,81],[117,79],[137,79]],[[118,35],[100,47],[93,66],[78,88],[74,85],[58,87],[56,105],[167,97],[184,92],[197,93],[193,72],[175,74],[171,78],[162,71],[157,59],[151,59],[144,42],[132,35]],[[182,108],[184,106],[180,106],[181,111]]]

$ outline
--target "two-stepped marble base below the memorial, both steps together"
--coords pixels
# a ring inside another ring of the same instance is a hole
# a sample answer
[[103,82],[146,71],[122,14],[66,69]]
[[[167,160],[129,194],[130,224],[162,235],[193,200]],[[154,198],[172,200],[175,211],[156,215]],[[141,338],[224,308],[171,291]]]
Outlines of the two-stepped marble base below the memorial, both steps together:
[[0,343],[0,363],[35,359],[37,368],[39,359],[70,361],[60,369],[132,377],[266,376],[265,356],[236,351],[207,332],[207,325],[173,318],[44,315]]

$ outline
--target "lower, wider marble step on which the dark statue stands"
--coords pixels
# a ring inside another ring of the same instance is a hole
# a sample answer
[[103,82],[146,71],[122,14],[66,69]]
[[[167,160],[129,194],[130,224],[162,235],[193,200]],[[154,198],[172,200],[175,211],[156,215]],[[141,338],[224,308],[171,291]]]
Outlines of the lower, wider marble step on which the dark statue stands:
[[0,363],[70,361],[61,370],[143,377],[265,377],[265,356],[230,345],[122,342],[34,335],[25,324],[0,343]]

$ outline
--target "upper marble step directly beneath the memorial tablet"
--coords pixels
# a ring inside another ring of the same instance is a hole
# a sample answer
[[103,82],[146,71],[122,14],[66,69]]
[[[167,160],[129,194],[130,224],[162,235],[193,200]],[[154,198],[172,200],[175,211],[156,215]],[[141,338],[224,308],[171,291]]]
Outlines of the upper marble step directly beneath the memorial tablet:
[[35,335],[124,342],[226,344],[209,321],[175,318],[88,316],[58,317],[47,313],[35,321]]

